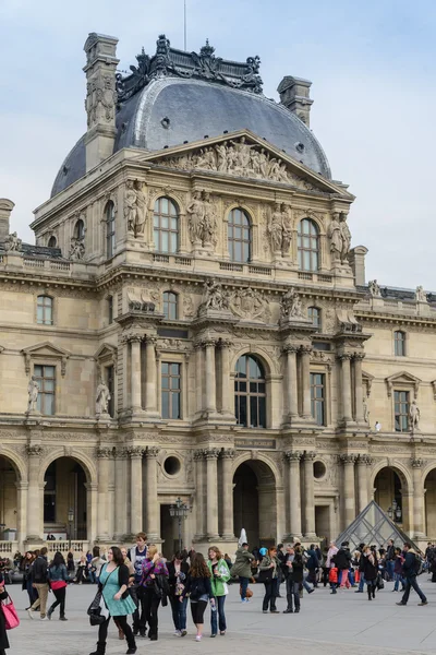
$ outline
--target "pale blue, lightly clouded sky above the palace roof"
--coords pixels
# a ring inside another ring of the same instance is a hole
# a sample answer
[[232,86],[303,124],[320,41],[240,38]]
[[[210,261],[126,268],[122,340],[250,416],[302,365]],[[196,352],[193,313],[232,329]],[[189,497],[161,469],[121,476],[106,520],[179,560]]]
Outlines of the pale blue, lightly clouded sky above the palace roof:
[[[353,246],[366,279],[436,290],[436,2],[186,0],[187,50],[205,39],[226,59],[259,55],[264,93],[284,75],[313,82],[311,129],[334,179],[356,195]],[[117,36],[120,69],[165,33],[183,48],[183,0],[0,0],[0,196],[33,242],[33,210],[86,130],[83,45]]]

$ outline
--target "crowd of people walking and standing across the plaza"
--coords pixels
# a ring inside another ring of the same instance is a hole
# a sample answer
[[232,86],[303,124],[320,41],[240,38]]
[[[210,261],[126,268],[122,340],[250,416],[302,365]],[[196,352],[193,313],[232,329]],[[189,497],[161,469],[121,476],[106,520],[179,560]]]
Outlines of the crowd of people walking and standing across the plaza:
[[[175,552],[171,561],[158,551],[154,544],[147,545],[144,533],[136,535],[136,545],[130,549],[112,546],[101,551],[95,547],[74,560],[69,553],[66,561],[56,552],[49,561],[48,550],[28,551],[16,559],[23,573],[23,590],[28,595],[26,608],[31,619],[39,614],[40,620],[50,620],[59,608],[59,619],[66,621],[65,600],[69,584],[85,581],[98,585],[99,614],[98,641],[90,655],[104,655],[110,619],[118,628],[119,639],[126,641],[128,654],[136,652],[136,638],[158,640],[158,612],[160,606],[171,608],[174,635],[187,634],[186,611],[190,604],[195,640],[203,639],[205,611],[210,606],[210,638],[227,632],[226,597],[229,584],[239,584],[242,604],[250,603],[251,585],[264,585],[262,610],[264,614],[298,614],[301,610],[303,591],[312,594],[319,585],[329,585],[332,595],[338,590],[356,587],[374,600],[376,592],[385,582],[393,583],[392,592],[402,592],[397,605],[407,605],[413,588],[420,597],[420,606],[427,598],[417,584],[422,570],[432,572],[436,582],[436,548],[428,544],[425,557],[416,553],[410,543],[396,547],[390,539],[385,548],[360,544],[351,551],[348,541],[339,547],[331,543],[323,551],[312,544],[305,548],[299,540],[278,544],[269,548],[254,548],[242,543],[234,562],[219,548],[208,549],[207,560],[194,549]],[[279,610],[277,599],[282,598],[281,584],[286,590],[286,607]],[[0,571],[0,598],[4,597],[4,576]],[[49,592],[53,602],[47,608]],[[101,598],[100,598],[101,597]],[[90,606],[88,614],[95,611]],[[0,618],[2,612],[0,612]],[[132,621],[129,621],[132,617]],[[8,636],[0,621],[0,655],[8,648]]]

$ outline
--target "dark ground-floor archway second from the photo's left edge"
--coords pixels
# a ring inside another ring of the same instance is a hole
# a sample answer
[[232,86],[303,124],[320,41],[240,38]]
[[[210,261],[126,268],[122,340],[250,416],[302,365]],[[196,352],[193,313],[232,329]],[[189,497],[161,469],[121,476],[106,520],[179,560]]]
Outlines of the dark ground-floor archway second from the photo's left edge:
[[86,473],[72,457],[51,462],[44,476],[44,538],[87,539]]

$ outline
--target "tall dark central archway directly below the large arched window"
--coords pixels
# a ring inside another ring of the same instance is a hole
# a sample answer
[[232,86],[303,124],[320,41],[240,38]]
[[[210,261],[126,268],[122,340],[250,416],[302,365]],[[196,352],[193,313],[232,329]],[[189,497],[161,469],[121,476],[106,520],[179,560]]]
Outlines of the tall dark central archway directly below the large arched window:
[[265,462],[250,460],[234,472],[233,528],[237,537],[245,528],[251,549],[276,543],[276,478]]

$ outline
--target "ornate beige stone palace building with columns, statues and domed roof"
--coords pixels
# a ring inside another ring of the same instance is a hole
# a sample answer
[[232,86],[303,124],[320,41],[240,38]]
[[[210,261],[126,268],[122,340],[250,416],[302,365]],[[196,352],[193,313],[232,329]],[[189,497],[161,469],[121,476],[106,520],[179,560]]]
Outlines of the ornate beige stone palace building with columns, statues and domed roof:
[[165,36],[122,78],[116,46],[85,44],[35,246],[0,201],[0,550],[170,555],[179,497],[197,549],[334,538],[372,498],[435,538],[436,297],[366,284],[311,83],[275,103],[258,58]]

